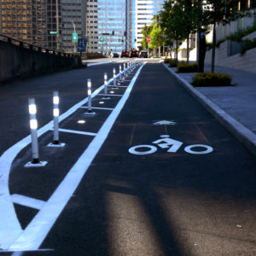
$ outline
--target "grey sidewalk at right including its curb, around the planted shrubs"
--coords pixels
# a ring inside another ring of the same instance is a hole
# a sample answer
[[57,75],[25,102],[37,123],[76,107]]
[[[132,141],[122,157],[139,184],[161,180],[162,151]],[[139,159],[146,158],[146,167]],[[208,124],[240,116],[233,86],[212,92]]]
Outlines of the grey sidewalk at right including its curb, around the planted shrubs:
[[[189,83],[195,73],[175,73],[176,68],[168,70],[179,79],[222,124],[256,154],[256,74],[227,67],[216,67],[216,72],[229,73],[236,86],[197,87]],[[210,71],[206,65],[205,71]]]

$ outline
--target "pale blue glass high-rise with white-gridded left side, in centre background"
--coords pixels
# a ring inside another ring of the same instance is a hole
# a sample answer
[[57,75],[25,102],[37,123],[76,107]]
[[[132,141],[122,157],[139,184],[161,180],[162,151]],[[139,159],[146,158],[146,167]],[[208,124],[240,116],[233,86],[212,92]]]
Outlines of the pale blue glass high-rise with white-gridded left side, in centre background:
[[128,48],[130,0],[87,1],[88,52],[120,52]]

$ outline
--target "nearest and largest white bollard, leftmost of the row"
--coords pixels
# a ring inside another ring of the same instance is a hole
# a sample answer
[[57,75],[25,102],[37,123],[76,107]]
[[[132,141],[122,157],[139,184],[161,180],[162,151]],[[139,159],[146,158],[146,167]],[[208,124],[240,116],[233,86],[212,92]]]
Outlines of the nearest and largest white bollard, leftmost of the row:
[[28,111],[30,119],[31,141],[32,141],[32,161],[28,162],[25,167],[46,166],[46,161],[39,161],[38,153],[38,120],[37,106],[34,98],[28,99]]

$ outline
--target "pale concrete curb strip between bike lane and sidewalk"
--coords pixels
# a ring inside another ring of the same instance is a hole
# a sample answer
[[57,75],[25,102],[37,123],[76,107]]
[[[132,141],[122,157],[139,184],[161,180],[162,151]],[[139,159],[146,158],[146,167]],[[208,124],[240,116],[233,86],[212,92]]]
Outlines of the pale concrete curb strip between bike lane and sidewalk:
[[[162,62],[162,65],[166,67],[166,64]],[[182,79],[177,73],[174,73],[169,67],[166,69],[172,73],[172,75],[183,85],[183,87],[189,91],[189,93],[195,97],[198,102],[207,108],[212,115],[218,119],[218,121],[224,125],[224,127],[230,131],[230,133],[236,137],[241,143],[243,143],[247,149],[249,149],[254,155],[256,155],[256,135],[253,131],[250,131],[244,125],[241,125],[236,119],[232,118],[229,113],[226,113],[224,109],[219,108],[217,104],[209,100],[206,96],[201,94],[199,90],[196,90],[188,81]]]

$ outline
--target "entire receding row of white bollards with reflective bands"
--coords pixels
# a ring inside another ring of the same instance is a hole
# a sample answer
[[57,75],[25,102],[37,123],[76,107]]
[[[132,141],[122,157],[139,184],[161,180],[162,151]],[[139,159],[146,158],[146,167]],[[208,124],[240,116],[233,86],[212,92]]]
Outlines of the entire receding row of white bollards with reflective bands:
[[[125,79],[134,68],[139,66],[141,63],[127,63],[127,67],[124,63],[124,70],[122,71],[121,65],[119,65],[119,80]],[[116,73],[113,68],[113,89],[116,87]],[[88,95],[88,112],[85,114],[93,115],[91,107],[91,79],[87,79],[87,95]],[[104,73],[104,97],[102,99],[110,99],[108,97],[108,74]],[[49,143],[48,147],[64,147],[65,143],[60,143],[59,139],[59,109],[60,97],[58,91],[53,92],[53,142]],[[25,167],[42,167],[46,166],[47,161],[39,160],[38,153],[38,120],[37,120],[37,106],[34,98],[28,99],[28,109],[30,118],[30,130],[32,138],[32,160],[28,162]]]

